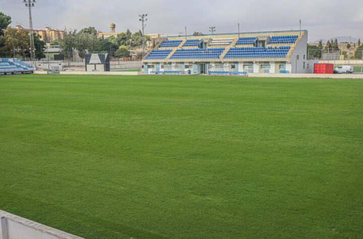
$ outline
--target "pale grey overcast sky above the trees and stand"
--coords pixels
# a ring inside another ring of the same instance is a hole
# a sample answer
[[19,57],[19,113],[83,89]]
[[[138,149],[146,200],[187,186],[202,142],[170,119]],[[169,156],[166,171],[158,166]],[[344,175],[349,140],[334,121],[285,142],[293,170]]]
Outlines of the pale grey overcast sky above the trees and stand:
[[[0,0],[0,11],[12,17],[13,26],[29,25],[23,0]],[[147,13],[146,33],[178,34],[188,28],[208,33],[209,26],[216,33],[302,29],[309,31],[309,41],[335,36],[363,39],[362,0],[36,0],[33,26],[82,29],[93,26],[108,32],[108,25],[116,24],[116,31],[140,29],[138,15]]]

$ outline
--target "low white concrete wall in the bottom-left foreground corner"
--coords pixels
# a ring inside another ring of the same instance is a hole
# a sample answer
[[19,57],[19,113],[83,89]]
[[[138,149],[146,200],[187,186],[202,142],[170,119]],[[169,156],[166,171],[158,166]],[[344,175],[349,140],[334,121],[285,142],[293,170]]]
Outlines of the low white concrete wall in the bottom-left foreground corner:
[[0,239],[83,239],[0,210]]

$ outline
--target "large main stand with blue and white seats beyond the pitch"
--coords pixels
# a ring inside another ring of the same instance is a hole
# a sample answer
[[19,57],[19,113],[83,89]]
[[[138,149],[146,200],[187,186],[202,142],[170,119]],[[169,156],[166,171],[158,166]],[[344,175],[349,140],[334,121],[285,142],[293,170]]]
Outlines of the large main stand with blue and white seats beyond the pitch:
[[146,74],[310,73],[308,31],[165,36],[143,59]]

